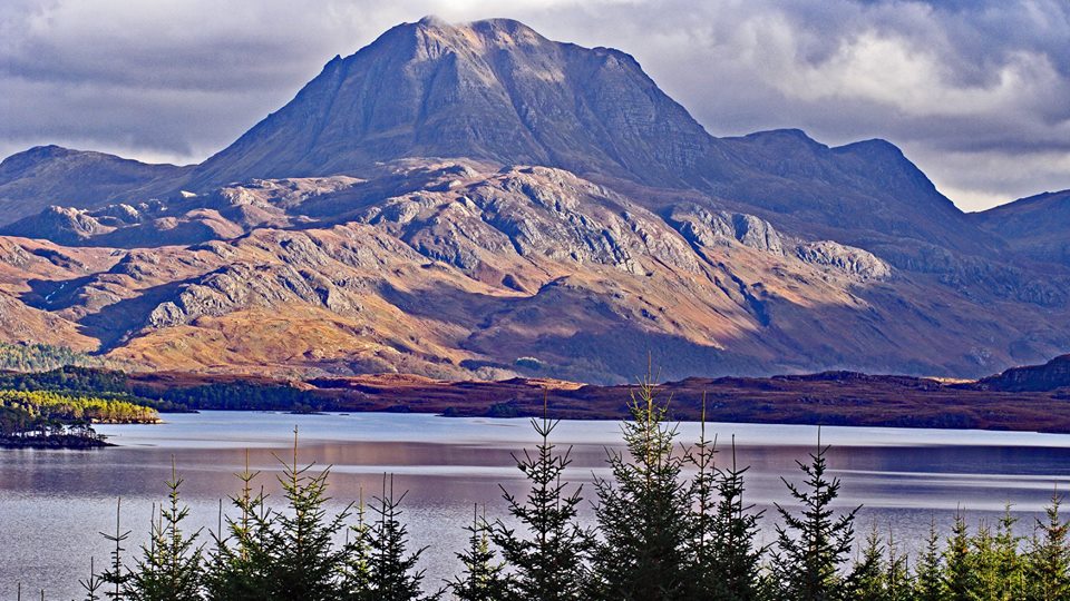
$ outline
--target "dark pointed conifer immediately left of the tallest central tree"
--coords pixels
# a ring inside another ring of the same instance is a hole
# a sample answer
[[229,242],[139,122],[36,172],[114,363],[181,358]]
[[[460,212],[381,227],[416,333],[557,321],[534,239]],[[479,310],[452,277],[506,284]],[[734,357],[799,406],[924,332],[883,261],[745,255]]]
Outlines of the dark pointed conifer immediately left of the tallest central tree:
[[513,456],[529,484],[526,499],[522,501],[502,489],[509,514],[524,532],[517,533],[500,521],[492,532],[492,540],[514,572],[510,589],[524,600],[575,600],[586,585],[591,538],[576,520],[583,491],[576,486],[568,492],[571,486],[563,479],[572,459],[571,449],[557,453],[549,440],[557,423],[549,420],[544,405],[543,417],[532,420],[539,436],[535,453],[525,450],[523,456]]

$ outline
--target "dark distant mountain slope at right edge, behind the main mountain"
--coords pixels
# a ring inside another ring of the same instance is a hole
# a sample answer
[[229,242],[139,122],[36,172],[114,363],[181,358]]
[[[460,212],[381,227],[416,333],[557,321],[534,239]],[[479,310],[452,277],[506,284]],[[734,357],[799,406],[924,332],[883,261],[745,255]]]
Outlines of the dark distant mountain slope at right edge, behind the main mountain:
[[1022,255],[1070,266],[1070,190],[1022,198],[971,217]]

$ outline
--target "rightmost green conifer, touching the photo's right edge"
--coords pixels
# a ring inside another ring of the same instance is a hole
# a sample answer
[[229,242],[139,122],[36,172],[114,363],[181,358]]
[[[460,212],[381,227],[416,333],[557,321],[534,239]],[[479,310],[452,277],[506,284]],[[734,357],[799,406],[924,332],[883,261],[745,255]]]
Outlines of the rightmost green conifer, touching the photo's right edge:
[[1033,536],[1027,558],[1028,598],[1031,601],[1070,599],[1070,524],[1059,514],[1062,497],[1052,493],[1051,504],[1044,509],[1045,520],[1037,520],[1038,534]]

